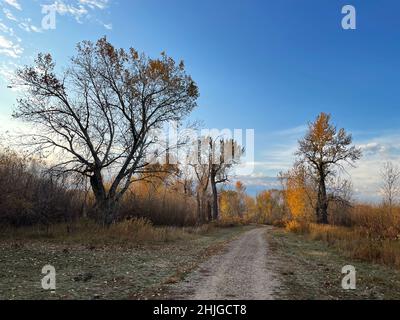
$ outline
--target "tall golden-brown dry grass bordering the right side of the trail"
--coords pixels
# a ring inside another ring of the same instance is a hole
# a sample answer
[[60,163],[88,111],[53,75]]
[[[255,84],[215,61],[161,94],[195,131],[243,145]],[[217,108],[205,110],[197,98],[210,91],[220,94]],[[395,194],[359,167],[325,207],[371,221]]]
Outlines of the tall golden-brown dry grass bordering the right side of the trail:
[[323,241],[351,258],[400,269],[400,208],[391,211],[356,205],[350,211],[350,227],[290,221],[286,229]]

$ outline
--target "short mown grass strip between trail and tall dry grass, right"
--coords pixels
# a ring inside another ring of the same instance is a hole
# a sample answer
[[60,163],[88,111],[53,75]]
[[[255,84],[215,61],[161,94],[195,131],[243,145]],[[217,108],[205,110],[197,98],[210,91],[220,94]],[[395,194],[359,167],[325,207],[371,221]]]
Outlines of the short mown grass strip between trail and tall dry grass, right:
[[[281,229],[271,229],[266,237],[281,279],[277,299],[400,299],[398,270],[347,258],[325,242]],[[341,287],[345,265],[356,268],[356,290]]]

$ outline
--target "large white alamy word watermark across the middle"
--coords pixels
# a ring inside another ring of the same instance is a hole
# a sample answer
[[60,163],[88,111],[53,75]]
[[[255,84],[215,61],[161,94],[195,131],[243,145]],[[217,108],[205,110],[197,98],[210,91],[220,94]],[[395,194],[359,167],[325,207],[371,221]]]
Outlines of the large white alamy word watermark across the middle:
[[164,129],[152,130],[148,140],[154,141],[147,152],[148,163],[219,165],[223,162],[235,164],[237,175],[254,173],[254,129],[180,129],[172,121]]

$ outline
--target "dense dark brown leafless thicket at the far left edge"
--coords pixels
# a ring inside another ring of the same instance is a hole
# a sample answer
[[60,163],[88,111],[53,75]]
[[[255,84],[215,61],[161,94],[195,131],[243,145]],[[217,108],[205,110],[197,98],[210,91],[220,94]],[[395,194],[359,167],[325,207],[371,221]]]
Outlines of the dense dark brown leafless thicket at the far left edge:
[[64,184],[47,175],[40,163],[0,151],[0,225],[49,225],[73,219],[81,208],[78,192]]

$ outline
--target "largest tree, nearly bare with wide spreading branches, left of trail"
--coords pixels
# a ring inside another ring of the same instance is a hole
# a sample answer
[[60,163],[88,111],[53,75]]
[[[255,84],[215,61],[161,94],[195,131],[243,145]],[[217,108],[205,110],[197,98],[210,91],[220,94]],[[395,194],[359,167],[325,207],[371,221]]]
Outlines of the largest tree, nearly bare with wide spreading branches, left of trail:
[[152,131],[182,120],[199,95],[183,62],[117,49],[106,38],[79,43],[60,73],[50,54],[39,54],[33,66],[17,71],[16,84],[25,93],[14,117],[36,127],[29,144],[52,155],[55,171],[90,180],[105,224],[148,166],[157,143]]

